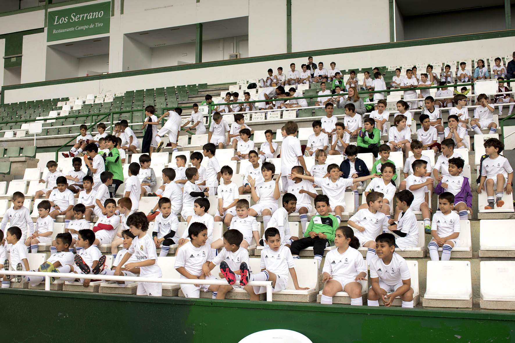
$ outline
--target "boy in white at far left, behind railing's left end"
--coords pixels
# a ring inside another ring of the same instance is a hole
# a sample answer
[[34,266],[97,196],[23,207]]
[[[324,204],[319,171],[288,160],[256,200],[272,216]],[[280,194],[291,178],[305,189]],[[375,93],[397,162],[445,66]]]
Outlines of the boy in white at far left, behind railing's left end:
[[[29,261],[27,258],[27,247],[23,244],[22,240],[22,230],[20,230],[17,226],[11,226],[7,229],[7,234],[5,235],[5,241],[7,244],[11,246],[10,248],[10,257],[9,260],[4,261],[4,269],[5,270],[19,270],[25,271],[29,270]],[[2,280],[2,288],[9,288],[11,285],[11,279],[14,279],[14,282],[22,282],[25,280],[25,277],[22,276],[13,276],[6,275]]]

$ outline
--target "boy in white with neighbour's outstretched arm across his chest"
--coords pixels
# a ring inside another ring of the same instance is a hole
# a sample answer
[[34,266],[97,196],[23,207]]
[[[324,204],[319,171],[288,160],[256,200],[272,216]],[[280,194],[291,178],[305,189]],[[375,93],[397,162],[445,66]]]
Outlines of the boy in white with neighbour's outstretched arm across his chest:
[[[300,175],[304,175],[304,168],[300,165],[297,165],[291,168],[292,173],[297,173]],[[317,192],[313,187],[313,183],[307,180],[302,180],[301,178],[293,178],[288,185],[288,193],[295,195],[297,198],[297,204],[295,211],[299,213],[300,225],[302,226],[302,233],[306,232],[307,225],[307,213],[312,210],[312,200],[317,196]]]

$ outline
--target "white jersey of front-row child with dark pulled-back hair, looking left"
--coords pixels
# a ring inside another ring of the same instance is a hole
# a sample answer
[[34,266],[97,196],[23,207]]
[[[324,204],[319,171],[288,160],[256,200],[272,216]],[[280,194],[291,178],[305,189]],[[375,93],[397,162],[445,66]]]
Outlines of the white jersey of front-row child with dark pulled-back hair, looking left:
[[338,249],[333,249],[325,255],[324,272],[336,279],[354,279],[359,273],[367,272],[367,264],[361,252],[352,247],[348,247],[342,254]]

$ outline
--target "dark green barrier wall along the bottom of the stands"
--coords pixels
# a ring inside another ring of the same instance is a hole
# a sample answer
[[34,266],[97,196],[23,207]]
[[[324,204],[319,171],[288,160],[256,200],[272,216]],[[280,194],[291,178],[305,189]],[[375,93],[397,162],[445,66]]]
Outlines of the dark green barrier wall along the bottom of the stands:
[[[290,329],[321,342],[509,342],[515,314],[0,290],[10,342],[238,342]],[[12,305],[11,305],[12,304]]]

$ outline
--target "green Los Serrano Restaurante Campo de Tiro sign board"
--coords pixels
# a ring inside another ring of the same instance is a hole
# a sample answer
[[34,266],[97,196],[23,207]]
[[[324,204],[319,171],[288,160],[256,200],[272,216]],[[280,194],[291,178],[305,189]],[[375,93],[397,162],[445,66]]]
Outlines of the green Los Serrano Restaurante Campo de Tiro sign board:
[[49,11],[47,42],[109,33],[111,2]]

